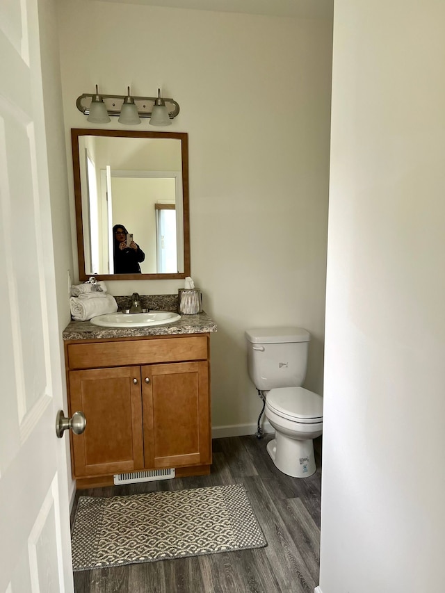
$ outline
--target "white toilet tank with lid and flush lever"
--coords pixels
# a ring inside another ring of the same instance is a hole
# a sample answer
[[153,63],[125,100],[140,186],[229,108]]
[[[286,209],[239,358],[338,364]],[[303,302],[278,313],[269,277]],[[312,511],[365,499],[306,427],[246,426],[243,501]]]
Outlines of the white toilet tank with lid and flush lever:
[[246,330],[248,370],[257,389],[300,387],[306,377],[311,335],[302,327]]

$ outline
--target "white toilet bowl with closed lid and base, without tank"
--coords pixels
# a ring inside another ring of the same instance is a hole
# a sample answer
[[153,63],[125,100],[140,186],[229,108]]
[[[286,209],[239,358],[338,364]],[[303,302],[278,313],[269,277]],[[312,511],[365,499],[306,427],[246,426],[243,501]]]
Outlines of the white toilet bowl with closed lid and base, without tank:
[[312,476],[313,439],[323,432],[323,398],[302,387],[271,389],[264,413],[275,429],[275,439],[266,447],[275,466],[293,478]]

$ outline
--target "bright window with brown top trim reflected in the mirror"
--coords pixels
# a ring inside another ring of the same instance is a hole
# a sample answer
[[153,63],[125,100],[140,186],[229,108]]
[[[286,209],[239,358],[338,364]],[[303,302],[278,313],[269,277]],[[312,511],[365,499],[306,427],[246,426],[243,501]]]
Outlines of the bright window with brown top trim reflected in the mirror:
[[154,204],[156,211],[156,268],[158,274],[177,273],[175,204]]

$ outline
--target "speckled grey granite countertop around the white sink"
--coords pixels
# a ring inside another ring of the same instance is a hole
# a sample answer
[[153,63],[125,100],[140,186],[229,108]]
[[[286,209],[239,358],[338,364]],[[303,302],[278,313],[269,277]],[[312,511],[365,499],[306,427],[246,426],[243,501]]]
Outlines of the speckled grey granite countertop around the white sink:
[[152,327],[99,327],[90,321],[71,321],[63,330],[64,340],[95,340],[103,338],[134,338],[140,336],[175,336],[216,332],[216,323],[203,311],[182,315],[181,319]]

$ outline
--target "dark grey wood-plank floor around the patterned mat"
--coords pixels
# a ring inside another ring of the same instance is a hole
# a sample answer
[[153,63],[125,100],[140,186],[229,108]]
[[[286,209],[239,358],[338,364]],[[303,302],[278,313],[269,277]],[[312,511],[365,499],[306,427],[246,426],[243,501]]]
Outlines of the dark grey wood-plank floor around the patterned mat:
[[74,573],[76,593],[314,593],[318,585],[321,439],[317,471],[303,480],[277,470],[266,434],[213,440],[209,476],[82,490],[113,496],[243,483],[267,539],[265,548]]

